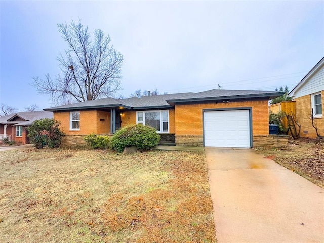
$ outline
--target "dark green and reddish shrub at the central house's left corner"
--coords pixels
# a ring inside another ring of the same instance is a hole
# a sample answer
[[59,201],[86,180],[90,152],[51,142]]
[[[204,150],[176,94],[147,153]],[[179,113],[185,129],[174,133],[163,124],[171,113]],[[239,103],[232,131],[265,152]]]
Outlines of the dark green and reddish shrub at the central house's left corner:
[[64,133],[59,128],[59,121],[54,119],[35,120],[28,128],[28,137],[36,148],[58,148]]

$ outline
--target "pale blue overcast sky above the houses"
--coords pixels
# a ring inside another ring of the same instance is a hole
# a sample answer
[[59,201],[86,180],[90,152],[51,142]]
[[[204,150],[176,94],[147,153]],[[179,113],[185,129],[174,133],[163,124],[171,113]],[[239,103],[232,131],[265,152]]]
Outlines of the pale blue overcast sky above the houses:
[[123,96],[292,90],[324,56],[324,1],[0,0],[0,103],[53,106],[33,77],[60,73],[57,24],[78,19],[124,55]]

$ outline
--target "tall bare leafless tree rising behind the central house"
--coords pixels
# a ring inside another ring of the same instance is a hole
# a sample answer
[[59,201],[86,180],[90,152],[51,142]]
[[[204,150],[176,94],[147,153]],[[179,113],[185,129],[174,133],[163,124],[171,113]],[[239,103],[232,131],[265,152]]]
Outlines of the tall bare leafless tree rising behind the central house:
[[124,57],[110,44],[110,36],[96,29],[91,39],[88,26],[80,20],[57,26],[68,44],[65,55],[57,57],[61,74],[54,79],[49,74],[44,79],[34,77],[38,92],[50,94],[53,104],[68,104],[112,96],[120,90]]

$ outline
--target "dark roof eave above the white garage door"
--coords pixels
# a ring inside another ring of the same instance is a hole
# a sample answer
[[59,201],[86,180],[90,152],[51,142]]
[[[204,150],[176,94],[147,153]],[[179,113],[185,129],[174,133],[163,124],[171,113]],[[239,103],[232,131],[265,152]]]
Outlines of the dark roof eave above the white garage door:
[[235,96],[221,96],[221,97],[207,97],[207,98],[192,98],[192,99],[170,99],[166,100],[170,105],[175,103],[187,102],[201,102],[201,101],[215,101],[215,100],[236,100],[236,99],[251,99],[251,98],[267,98],[272,100],[276,97],[284,95],[286,92],[265,93],[265,94],[250,94],[250,95],[235,95]]

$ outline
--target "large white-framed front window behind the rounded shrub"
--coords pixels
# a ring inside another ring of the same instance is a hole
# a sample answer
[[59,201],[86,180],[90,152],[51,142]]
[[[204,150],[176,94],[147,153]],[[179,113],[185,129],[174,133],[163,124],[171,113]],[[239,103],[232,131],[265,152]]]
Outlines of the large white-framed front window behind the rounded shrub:
[[138,111],[137,123],[155,128],[158,133],[168,133],[169,110]]

